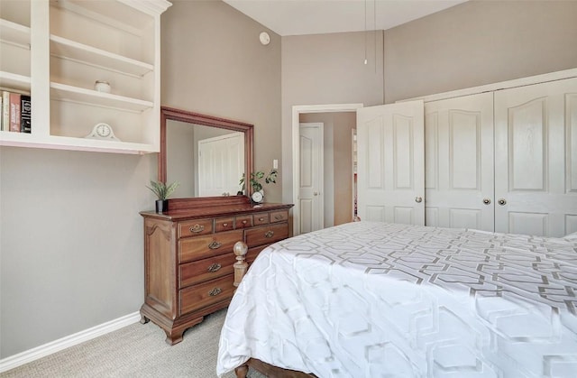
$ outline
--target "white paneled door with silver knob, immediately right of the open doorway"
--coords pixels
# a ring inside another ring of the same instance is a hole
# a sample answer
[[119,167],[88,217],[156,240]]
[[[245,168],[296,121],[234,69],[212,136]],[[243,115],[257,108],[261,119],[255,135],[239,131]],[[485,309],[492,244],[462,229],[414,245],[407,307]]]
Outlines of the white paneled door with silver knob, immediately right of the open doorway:
[[357,211],[362,220],[425,224],[423,101],[357,111]]

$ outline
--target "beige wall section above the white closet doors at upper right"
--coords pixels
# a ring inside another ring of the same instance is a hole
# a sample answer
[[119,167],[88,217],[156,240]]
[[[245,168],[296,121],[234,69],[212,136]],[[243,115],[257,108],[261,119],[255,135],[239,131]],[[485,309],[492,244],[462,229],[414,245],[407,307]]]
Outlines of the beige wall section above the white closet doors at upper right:
[[385,32],[385,102],[577,67],[577,1],[469,1]]

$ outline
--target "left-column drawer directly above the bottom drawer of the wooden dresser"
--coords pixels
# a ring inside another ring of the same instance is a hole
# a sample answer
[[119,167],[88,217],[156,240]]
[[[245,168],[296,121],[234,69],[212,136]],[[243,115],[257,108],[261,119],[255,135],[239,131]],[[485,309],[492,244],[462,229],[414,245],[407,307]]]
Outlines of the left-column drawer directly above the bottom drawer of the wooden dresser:
[[234,272],[234,254],[219,254],[210,259],[183,263],[179,266],[179,288],[198,282],[210,281]]

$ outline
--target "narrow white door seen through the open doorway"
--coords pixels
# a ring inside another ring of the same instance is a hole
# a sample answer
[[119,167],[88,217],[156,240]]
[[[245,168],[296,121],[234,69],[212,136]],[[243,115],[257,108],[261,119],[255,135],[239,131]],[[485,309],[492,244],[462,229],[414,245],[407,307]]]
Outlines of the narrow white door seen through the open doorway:
[[323,228],[323,124],[299,124],[299,234]]

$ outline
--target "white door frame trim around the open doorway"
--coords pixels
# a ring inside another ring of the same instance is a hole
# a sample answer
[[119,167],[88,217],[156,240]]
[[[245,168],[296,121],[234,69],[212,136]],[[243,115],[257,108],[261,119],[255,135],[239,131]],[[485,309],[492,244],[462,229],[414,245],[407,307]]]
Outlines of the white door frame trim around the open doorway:
[[325,104],[325,105],[295,105],[292,106],[292,208],[293,235],[300,234],[300,208],[298,208],[298,189],[300,187],[300,115],[307,113],[343,113],[355,112],[362,104]]

